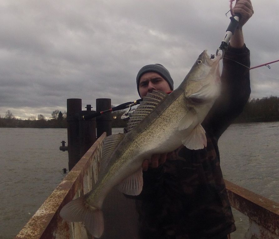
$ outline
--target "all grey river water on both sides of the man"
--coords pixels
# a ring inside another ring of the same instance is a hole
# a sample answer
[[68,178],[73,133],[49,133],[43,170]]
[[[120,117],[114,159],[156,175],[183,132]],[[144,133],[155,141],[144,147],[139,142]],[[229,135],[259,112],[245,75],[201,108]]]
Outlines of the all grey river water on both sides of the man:
[[[122,132],[122,129],[113,129]],[[0,128],[0,239],[17,235],[65,177],[66,129]],[[279,202],[279,122],[234,124],[219,140],[224,178]],[[243,238],[247,218],[234,211]]]

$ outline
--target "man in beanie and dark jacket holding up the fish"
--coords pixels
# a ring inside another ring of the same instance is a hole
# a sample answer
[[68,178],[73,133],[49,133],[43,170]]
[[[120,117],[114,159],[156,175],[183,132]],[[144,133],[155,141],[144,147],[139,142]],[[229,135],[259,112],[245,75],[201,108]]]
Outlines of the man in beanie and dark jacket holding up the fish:
[[[236,230],[217,143],[251,92],[250,51],[242,34],[254,13],[251,1],[236,0],[233,13],[240,13],[241,19],[223,58],[221,96],[202,123],[207,147],[181,146],[143,162],[143,189],[136,196],[140,238],[225,239]],[[146,65],[137,74],[137,90],[140,97],[152,90],[168,93],[173,79],[162,65]]]

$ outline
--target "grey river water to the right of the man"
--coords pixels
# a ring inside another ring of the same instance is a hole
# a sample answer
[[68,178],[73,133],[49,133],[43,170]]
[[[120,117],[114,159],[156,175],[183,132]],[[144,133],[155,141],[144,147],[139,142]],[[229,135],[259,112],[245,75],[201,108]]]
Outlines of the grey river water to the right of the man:
[[[279,202],[279,122],[233,124],[220,137],[220,165],[226,180]],[[244,238],[248,217],[232,208],[236,231]]]

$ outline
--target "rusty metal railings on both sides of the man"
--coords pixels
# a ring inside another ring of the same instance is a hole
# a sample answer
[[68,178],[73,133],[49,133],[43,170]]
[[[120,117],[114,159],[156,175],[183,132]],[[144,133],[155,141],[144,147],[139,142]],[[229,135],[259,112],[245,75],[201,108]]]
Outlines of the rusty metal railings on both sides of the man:
[[[106,133],[90,147],[54,192],[15,237],[32,239],[92,238],[80,222],[69,223],[59,217],[70,200],[89,192],[97,181],[102,142]],[[225,181],[231,206],[249,217],[245,239],[279,239],[279,203]]]

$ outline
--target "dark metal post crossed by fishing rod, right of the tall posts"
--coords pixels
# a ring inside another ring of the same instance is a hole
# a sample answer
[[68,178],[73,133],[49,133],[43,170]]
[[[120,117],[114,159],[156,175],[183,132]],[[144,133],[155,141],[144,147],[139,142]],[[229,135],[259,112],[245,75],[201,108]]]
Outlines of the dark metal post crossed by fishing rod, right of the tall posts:
[[[96,99],[96,112],[108,110],[110,108],[111,108],[111,99],[107,99],[107,98]],[[111,135],[111,123],[112,123],[111,112],[96,117],[97,138],[99,138],[103,132],[106,132],[107,136]]]

